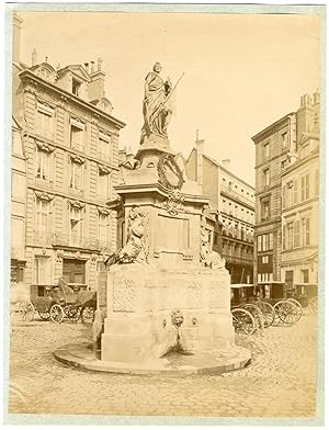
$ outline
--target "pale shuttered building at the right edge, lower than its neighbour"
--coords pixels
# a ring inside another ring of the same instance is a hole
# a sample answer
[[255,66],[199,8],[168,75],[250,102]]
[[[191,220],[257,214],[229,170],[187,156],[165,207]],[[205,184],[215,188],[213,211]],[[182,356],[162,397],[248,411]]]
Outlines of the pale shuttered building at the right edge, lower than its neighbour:
[[304,133],[282,172],[281,280],[318,283],[319,133]]

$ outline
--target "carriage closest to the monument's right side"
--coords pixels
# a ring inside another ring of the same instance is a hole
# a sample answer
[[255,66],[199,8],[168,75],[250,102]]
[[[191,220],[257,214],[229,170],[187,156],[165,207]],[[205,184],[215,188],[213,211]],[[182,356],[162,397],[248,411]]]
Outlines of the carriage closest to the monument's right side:
[[270,327],[275,312],[270,303],[259,299],[253,284],[231,284],[231,315],[236,335],[250,336]]

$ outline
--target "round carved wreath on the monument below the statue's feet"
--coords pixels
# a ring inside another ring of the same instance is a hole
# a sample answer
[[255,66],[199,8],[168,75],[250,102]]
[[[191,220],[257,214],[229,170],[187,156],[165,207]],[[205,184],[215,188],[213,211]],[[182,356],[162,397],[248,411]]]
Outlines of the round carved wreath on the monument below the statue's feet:
[[158,161],[158,174],[160,184],[168,190],[180,190],[183,186],[183,173],[174,157],[162,154]]

